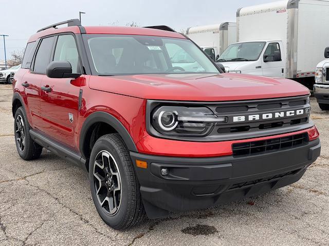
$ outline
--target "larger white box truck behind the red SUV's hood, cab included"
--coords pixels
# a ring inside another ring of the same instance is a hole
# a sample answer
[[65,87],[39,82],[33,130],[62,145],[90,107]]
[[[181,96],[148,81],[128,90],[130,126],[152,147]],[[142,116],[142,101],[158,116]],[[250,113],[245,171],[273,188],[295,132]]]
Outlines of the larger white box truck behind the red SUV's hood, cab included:
[[237,10],[237,42],[217,59],[226,72],[285,77],[312,89],[329,40],[329,2],[285,0]]

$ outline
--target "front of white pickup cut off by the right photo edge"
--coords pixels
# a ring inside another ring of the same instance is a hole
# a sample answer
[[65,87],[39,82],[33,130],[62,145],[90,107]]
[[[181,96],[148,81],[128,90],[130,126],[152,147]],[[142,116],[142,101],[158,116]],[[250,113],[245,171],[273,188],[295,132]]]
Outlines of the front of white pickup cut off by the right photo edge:
[[314,96],[322,110],[329,110],[329,47],[325,48],[324,57],[316,68]]

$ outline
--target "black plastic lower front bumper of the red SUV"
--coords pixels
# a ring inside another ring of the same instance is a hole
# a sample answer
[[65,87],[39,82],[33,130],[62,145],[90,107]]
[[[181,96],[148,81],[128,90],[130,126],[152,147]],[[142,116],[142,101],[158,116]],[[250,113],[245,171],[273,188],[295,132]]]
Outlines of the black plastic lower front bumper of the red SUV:
[[[205,209],[255,196],[298,181],[320,155],[320,139],[288,150],[253,156],[165,157],[131,152],[148,168],[136,167],[140,192],[150,218],[169,212]],[[169,169],[168,176],[160,170]]]

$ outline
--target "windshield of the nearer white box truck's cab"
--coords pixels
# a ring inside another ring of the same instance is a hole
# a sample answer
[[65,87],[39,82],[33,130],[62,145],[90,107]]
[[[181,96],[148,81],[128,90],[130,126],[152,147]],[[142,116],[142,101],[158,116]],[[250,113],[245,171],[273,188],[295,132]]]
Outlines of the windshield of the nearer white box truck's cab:
[[258,60],[265,44],[265,42],[232,44],[227,47],[217,61]]

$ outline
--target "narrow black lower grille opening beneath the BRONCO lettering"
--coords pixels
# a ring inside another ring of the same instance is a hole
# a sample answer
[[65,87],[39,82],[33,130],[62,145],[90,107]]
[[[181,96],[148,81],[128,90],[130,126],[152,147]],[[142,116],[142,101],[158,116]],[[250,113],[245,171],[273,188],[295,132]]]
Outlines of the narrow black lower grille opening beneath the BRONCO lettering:
[[292,135],[287,137],[272,138],[261,141],[243,142],[233,144],[233,156],[263,154],[269,151],[291,149],[308,142],[307,133]]

